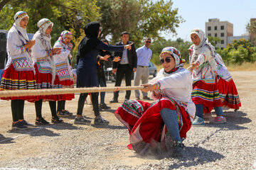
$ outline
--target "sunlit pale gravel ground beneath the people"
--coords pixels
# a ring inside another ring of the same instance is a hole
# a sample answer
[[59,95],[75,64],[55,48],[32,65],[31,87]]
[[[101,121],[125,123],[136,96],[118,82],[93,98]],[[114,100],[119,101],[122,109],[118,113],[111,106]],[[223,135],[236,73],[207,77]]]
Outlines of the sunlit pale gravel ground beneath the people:
[[[128,130],[113,114],[124,99],[122,91],[120,103],[108,104],[112,109],[101,113],[110,120],[107,126],[74,125],[73,115],[63,118],[63,124],[10,130],[10,101],[0,101],[0,169],[256,169],[256,72],[231,74],[242,108],[225,110],[225,125],[192,127],[184,141],[186,152],[179,159],[142,157],[127,149]],[[107,93],[107,103],[111,98],[112,93]],[[75,113],[77,102],[78,95],[66,108]],[[26,102],[25,118],[30,123],[34,123],[34,109],[33,103]],[[48,103],[43,104],[43,115],[50,120]],[[92,105],[85,106],[84,115],[93,122]]]

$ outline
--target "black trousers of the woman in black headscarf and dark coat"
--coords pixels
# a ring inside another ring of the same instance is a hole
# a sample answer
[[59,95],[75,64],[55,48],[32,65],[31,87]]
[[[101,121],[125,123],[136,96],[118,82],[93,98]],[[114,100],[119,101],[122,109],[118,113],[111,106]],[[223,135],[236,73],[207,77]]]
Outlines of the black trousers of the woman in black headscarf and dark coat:
[[[85,106],[85,98],[87,98],[88,94],[80,94],[78,99],[78,112],[77,115],[82,115],[82,109]],[[100,115],[99,110],[99,101],[98,101],[99,93],[92,93],[92,106],[95,116]]]

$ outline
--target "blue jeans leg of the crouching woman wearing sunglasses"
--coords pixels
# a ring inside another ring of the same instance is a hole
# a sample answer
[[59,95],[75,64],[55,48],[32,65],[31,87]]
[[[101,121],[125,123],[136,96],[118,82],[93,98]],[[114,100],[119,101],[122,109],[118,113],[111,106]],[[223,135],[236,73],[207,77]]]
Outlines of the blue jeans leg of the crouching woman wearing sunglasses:
[[161,118],[164,120],[164,124],[166,125],[169,134],[171,135],[171,139],[181,141],[181,136],[178,129],[177,112],[169,108],[163,108],[160,111],[160,114]]

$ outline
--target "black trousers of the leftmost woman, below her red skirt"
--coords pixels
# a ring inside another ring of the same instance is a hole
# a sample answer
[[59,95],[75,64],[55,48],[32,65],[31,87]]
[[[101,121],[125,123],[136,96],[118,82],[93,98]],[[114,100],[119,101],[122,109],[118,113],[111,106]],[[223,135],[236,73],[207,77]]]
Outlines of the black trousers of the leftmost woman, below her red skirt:
[[11,113],[14,122],[24,119],[24,102],[23,100],[11,100]]

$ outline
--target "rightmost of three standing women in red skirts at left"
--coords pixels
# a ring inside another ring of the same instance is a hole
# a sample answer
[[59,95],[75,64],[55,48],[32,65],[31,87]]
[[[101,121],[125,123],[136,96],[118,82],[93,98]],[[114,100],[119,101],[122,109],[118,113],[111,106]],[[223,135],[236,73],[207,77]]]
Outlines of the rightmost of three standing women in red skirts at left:
[[[61,48],[61,52],[58,55],[53,55],[56,72],[58,73],[58,77],[60,79],[60,84],[63,88],[73,88],[74,87],[74,80],[73,80],[73,73],[72,67],[70,66],[71,61],[71,50],[73,48],[72,43],[72,33],[68,30],[64,30],[60,34],[60,38],[55,42],[53,48]],[[58,116],[70,116],[73,113],[65,110],[65,101],[70,101],[75,98],[74,94],[63,94],[61,95],[62,100],[58,101],[57,107],[57,115]]]

